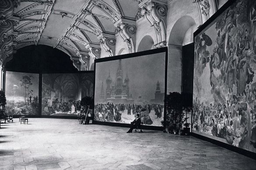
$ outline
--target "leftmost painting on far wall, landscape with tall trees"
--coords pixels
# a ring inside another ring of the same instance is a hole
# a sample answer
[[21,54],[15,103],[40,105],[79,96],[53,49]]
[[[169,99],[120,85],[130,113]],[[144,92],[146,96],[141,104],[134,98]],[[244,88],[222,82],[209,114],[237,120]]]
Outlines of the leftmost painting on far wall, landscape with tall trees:
[[9,115],[38,115],[39,74],[6,72],[6,112]]

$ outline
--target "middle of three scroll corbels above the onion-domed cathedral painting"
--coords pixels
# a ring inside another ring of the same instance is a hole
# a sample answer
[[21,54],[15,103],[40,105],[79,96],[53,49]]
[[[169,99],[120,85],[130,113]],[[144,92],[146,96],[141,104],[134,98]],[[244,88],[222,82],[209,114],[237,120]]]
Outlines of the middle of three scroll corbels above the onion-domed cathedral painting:
[[121,35],[124,42],[127,43],[129,53],[135,52],[136,38],[136,23],[135,21],[120,19],[114,26],[116,27],[115,34]]

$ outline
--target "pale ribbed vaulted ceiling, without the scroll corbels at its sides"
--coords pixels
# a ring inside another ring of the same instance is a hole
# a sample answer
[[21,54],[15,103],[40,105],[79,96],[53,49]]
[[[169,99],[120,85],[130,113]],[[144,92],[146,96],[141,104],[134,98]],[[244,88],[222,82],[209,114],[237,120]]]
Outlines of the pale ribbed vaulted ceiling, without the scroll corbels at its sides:
[[[114,23],[135,15],[142,0],[18,0],[14,8],[15,50],[27,45],[50,45],[85,64],[90,50],[95,58],[100,43],[115,43]],[[92,49],[93,48],[93,49]],[[112,52],[113,53],[113,52]],[[113,56],[113,54],[112,54]]]

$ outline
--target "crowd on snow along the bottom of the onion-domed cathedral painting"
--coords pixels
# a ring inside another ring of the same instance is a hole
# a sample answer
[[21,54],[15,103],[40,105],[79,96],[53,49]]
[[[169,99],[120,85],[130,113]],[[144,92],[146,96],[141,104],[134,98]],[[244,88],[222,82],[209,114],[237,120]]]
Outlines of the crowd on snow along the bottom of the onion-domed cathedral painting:
[[[164,117],[164,105],[160,104],[95,104],[94,120],[131,123],[139,114],[143,125],[159,126],[156,119]],[[154,123],[153,123],[154,121]]]

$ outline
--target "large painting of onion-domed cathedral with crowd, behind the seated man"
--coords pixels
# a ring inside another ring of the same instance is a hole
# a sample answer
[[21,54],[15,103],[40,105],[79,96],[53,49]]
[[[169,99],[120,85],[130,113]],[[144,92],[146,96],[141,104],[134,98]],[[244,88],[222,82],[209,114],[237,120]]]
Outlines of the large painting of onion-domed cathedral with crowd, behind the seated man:
[[94,120],[144,125],[164,120],[165,52],[96,62]]

